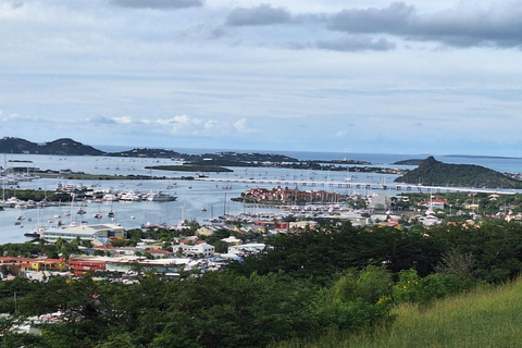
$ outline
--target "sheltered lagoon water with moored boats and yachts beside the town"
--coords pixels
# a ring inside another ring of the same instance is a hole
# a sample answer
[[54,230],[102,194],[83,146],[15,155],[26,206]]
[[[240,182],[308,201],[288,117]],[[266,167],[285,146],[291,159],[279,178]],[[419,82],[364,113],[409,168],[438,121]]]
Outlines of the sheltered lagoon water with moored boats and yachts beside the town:
[[[399,195],[405,192],[484,191],[513,194],[513,190],[437,187],[394,183],[397,175],[361,174],[341,171],[308,171],[276,167],[232,167],[233,173],[190,173],[151,171],[146,166],[172,164],[171,159],[134,159],[113,157],[53,157],[16,154],[28,169],[54,170],[64,174],[59,178],[21,179],[5,187],[54,191],[57,188],[87,188],[97,192],[97,198],[69,201],[41,209],[35,202],[18,202],[18,206],[0,211],[0,243],[26,241],[25,233],[59,224],[115,223],[124,228],[163,225],[176,226],[183,221],[210,224],[222,215],[245,214],[271,219],[284,214],[285,207],[270,204],[245,204],[232,201],[247,189],[288,187],[291,189],[325,190],[341,195],[366,197],[378,192]],[[488,160],[488,159],[486,159]],[[513,160],[514,161],[514,160]],[[514,161],[513,167],[520,161]],[[509,162],[504,162],[508,163]],[[497,169],[502,170],[502,169]],[[30,170],[28,170],[30,172]],[[73,181],[66,173],[112,175],[113,179]],[[149,179],[123,179],[123,175],[147,175]],[[181,177],[194,179],[181,179]],[[160,195],[160,196],[158,196]],[[145,198],[144,198],[145,197]],[[159,198],[157,198],[159,197]],[[157,198],[157,199],[154,199]],[[5,197],[5,200],[12,199]],[[315,208],[301,207],[304,212],[327,212],[332,204],[324,202]],[[338,204],[337,204],[338,206]],[[347,207],[341,207],[348,211]],[[340,208],[335,208],[340,209]],[[40,214],[40,216],[38,216]]]

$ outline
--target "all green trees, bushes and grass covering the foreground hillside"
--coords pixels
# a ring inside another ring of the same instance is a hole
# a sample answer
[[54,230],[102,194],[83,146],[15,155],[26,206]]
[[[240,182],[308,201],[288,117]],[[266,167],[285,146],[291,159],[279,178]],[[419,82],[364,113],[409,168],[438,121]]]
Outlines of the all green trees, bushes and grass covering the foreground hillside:
[[[261,254],[219,272],[184,273],[182,281],[137,269],[125,283],[113,274],[1,282],[0,312],[13,316],[0,321],[0,346],[201,348],[286,341],[288,347],[378,347],[396,339],[401,347],[410,341],[418,341],[415,347],[453,347],[453,340],[472,335],[475,324],[487,325],[487,319],[507,316],[520,323],[520,311],[502,311],[500,304],[486,302],[487,296],[481,301],[475,297],[474,309],[458,304],[471,295],[456,297],[449,312],[444,306],[450,304],[444,303],[451,300],[439,302],[520,275],[522,225],[515,221],[400,229],[332,220],[318,229],[265,241],[270,248]],[[34,245],[32,252],[41,252],[39,247]],[[481,289],[494,294],[487,286]],[[513,296],[518,289],[520,282]],[[506,296],[508,302],[520,302]],[[61,319],[42,323],[39,336],[10,330],[33,315],[57,311]],[[430,315],[439,326],[426,324]],[[469,333],[457,326],[465,321],[473,323],[465,323]],[[510,347],[510,326],[505,326],[504,347]],[[360,332],[369,334],[357,336]],[[426,340],[420,340],[423,336]],[[322,337],[320,346],[313,346],[315,337]],[[365,339],[375,346],[364,346]],[[472,346],[477,345],[462,347]]]

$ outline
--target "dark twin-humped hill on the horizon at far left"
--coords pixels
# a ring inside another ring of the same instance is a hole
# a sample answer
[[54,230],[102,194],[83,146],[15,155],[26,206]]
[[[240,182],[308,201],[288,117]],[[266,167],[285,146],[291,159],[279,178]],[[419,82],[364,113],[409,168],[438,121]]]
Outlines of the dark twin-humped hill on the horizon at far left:
[[101,156],[105,153],[91,146],[83,145],[69,138],[46,142],[30,142],[13,137],[3,137],[0,139],[0,152],[60,156]]

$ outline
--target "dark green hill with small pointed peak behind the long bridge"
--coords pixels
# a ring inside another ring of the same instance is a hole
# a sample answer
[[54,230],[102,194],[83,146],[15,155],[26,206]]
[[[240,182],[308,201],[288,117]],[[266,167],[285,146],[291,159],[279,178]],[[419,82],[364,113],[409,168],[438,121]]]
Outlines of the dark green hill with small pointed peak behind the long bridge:
[[522,188],[522,182],[475,164],[448,164],[433,157],[421,161],[415,170],[399,176],[396,183],[435,186]]

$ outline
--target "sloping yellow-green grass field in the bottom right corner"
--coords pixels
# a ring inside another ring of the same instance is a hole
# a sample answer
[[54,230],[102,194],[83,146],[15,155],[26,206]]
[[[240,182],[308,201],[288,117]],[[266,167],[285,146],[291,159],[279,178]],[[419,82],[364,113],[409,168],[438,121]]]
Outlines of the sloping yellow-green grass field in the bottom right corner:
[[478,287],[428,308],[402,304],[388,330],[347,337],[327,333],[308,343],[276,348],[522,347],[522,278],[499,287]]

